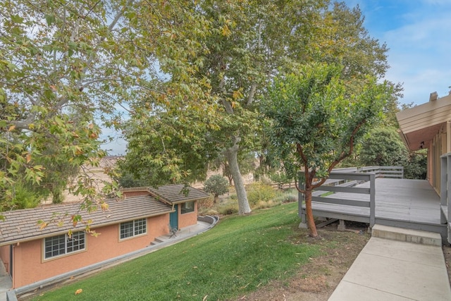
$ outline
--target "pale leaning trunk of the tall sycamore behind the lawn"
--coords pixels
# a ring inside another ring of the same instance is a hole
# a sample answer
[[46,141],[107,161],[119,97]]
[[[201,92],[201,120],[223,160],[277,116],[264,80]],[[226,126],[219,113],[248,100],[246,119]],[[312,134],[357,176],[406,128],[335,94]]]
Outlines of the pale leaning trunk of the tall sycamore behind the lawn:
[[235,190],[237,192],[238,214],[247,214],[252,210],[251,207],[249,207],[249,202],[247,201],[245,183],[242,180],[240,167],[238,166],[237,154],[239,142],[240,137],[233,137],[233,146],[230,147],[230,149],[227,149],[225,154],[230,168],[230,173],[233,177],[233,185],[235,186]]

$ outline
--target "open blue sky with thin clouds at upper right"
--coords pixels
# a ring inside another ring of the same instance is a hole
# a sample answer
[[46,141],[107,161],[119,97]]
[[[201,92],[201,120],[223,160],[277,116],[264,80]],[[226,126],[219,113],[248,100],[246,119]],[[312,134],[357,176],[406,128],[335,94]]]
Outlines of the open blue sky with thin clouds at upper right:
[[446,96],[451,86],[451,0],[345,0],[357,4],[369,35],[385,42],[385,78],[401,82],[401,103],[428,102],[431,92]]

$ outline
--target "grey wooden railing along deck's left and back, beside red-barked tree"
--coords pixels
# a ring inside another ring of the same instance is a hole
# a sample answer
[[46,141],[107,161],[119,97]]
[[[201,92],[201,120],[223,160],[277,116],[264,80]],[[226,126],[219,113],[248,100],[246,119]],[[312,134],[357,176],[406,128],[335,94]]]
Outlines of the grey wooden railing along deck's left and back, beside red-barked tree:
[[[369,224],[372,228],[376,221],[376,178],[403,178],[404,168],[402,166],[365,166],[362,168],[338,168],[330,173],[328,180],[312,193],[312,202],[323,204],[338,204],[354,207],[369,208]],[[369,188],[355,187],[357,184],[369,182]],[[299,185],[304,185],[299,180]],[[331,193],[330,193],[331,192]],[[347,192],[369,195],[367,200],[349,198],[335,198],[335,192]],[[299,194],[299,201],[304,199]],[[299,215],[302,223],[305,223],[305,211],[302,202],[299,202]]]

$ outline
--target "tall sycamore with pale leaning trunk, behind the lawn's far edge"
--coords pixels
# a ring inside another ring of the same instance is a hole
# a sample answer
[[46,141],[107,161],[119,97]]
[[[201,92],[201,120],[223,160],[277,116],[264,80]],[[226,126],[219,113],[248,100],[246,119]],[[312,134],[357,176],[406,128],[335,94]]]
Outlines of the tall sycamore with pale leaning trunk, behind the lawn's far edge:
[[[246,214],[251,209],[239,158],[265,153],[259,99],[268,82],[310,61],[342,63],[346,78],[381,76],[388,68],[387,49],[364,30],[358,8],[326,0],[202,0],[187,9],[204,20],[204,35],[171,37],[179,47],[186,40],[199,45],[185,61],[192,73],[181,78],[180,68],[164,70],[167,85],[185,84],[185,99],[160,95],[156,98],[167,102],[152,107],[137,102],[141,114],[132,116],[125,131],[129,148],[123,167],[149,185],[189,183],[202,180],[209,163],[226,158],[240,214]],[[169,49],[158,55],[166,63],[176,54]],[[192,81],[205,92],[193,91]]]

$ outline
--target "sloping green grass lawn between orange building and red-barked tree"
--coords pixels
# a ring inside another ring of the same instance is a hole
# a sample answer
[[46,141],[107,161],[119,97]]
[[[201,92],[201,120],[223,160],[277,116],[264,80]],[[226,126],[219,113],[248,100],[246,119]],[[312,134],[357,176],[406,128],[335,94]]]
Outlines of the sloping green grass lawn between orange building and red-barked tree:
[[[233,299],[273,279],[293,276],[319,254],[317,246],[296,243],[298,224],[297,202],[229,216],[202,235],[35,300]],[[75,295],[79,288],[82,293]]]

